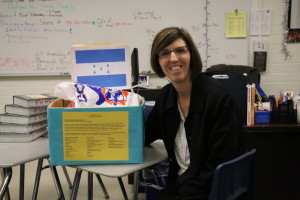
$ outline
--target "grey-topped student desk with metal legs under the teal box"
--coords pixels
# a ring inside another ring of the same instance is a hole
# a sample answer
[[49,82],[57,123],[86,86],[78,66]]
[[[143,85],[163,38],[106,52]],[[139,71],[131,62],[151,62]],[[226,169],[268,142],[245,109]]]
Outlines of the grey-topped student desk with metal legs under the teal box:
[[[139,171],[150,167],[152,165],[158,164],[167,159],[167,152],[165,150],[164,144],[161,140],[157,140],[152,143],[150,146],[144,148],[144,163],[142,164],[122,164],[122,165],[80,165],[80,166],[70,166],[76,168],[75,179],[73,183],[73,190],[71,194],[71,199],[76,199],[81,171],[87,171],[89,173],[94,173],[97,175],[103,175],[113,178],[118,178],[124,198],[128,199],[126,191],[124,189],[124,185],[121,177],[134,173],[134,191],[133,198],[135,200],[138,199],[138,180],[139,180]],[[90,176],[89,176],[90,177]],[[89,181],[89,187],[91,181]],[[92,187],[91,187],[92,188]],[[92,199],[92,190],[88,190],[89,197],[88,199]]]

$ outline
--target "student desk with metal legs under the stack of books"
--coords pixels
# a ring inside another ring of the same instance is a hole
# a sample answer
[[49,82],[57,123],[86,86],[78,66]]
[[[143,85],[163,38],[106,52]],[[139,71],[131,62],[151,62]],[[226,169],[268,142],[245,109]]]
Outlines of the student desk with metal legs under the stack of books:
[[[33,191],[33,199],[36,199],[43,159],[49,157],[48,138],[41,137],[28,143],[1,143],[0,152],[0,168],[3,168],[4,172],[3,183],[0,187],[0,199],[3,199],[6,191],[8,191],[8,185],[12,177],[12,167],[20,165],[19,199],[23,200],[25,163],[39,160]],[[61,199],[64,199],[56,168],[50,166],[50,169],[54,176],[56,188],[60,192]],[[7,194],[9,199],[9,192]]]

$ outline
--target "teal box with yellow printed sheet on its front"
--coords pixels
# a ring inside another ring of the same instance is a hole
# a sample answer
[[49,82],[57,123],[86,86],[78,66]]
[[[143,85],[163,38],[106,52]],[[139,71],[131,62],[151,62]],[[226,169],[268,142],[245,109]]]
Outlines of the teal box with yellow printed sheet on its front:
[[51,165],[143,163],[143,107],[48,107]]

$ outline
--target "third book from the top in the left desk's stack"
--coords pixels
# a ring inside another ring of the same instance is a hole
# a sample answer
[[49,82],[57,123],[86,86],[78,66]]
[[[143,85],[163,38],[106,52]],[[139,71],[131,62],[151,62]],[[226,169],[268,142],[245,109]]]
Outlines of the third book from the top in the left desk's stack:
[[47,113],[38,115],[15,115],[15,114],[0,114],[0,122],[3,123],[14,123],[14,124],[32,124],[40,121],[47,120]]

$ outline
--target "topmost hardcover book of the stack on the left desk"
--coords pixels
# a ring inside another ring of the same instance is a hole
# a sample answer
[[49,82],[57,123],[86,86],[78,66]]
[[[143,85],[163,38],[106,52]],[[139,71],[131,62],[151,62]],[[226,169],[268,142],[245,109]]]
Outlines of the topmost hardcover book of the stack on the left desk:
[[57,97],[53,94],[27,94],[13,96],[13,103],[23,107],[41,107],[48,106]]

